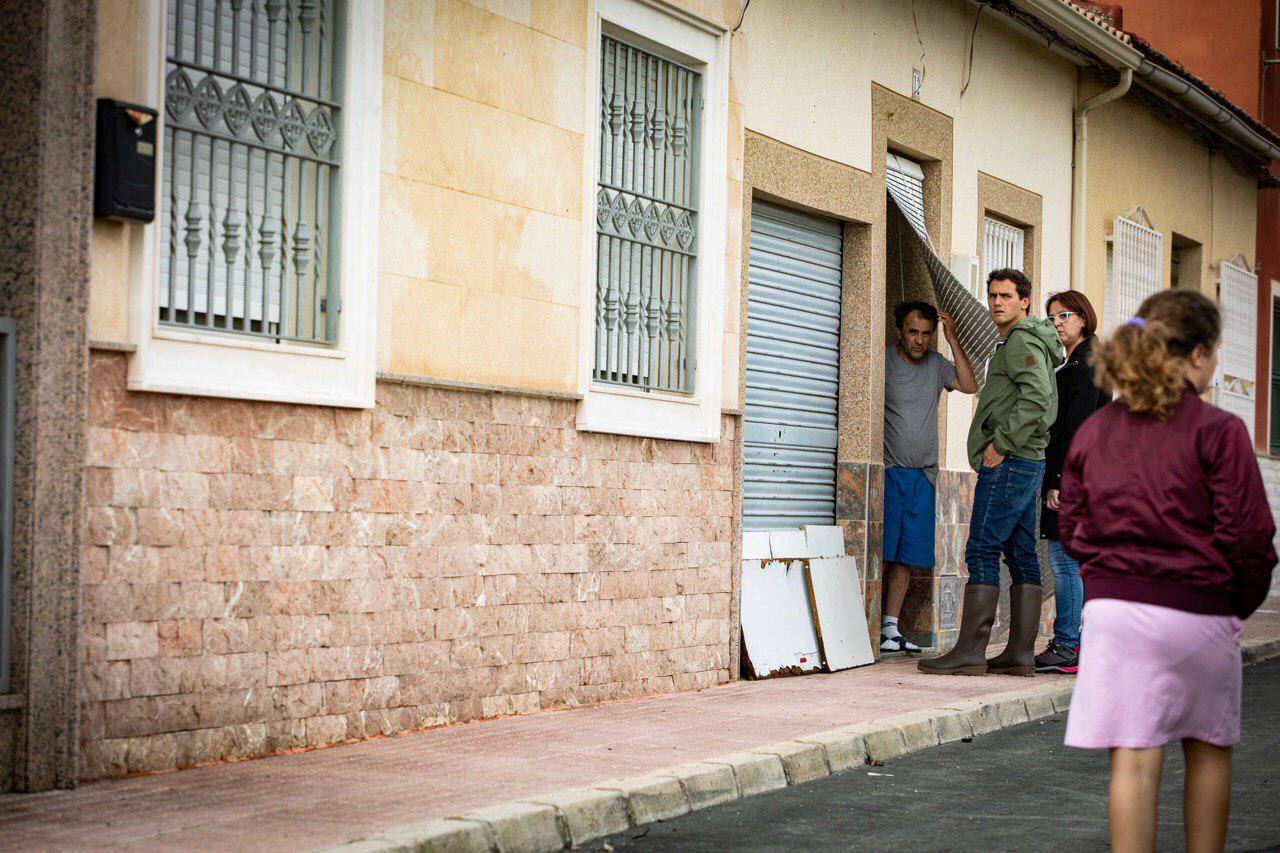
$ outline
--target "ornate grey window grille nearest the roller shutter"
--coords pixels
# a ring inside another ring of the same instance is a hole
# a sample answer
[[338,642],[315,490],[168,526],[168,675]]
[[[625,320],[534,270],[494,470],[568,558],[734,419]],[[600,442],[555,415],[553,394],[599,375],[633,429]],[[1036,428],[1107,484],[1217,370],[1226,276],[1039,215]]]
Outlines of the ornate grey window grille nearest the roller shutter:
[[600,58],[594,377],[691,392],[701,77],[609,36]]

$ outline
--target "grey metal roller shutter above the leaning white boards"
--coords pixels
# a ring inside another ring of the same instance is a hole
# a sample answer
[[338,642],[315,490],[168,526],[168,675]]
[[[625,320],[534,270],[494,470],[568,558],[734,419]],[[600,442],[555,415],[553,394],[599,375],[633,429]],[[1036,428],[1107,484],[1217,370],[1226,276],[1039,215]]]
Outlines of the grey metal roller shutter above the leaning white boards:
[[751,205],[742,524],[836,519],[841,225]]

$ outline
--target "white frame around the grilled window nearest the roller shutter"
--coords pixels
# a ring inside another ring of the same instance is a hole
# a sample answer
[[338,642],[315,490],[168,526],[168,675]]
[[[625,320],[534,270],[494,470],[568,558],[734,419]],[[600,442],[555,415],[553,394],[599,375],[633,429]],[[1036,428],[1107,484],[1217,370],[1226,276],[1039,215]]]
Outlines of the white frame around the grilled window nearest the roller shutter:
[[[696,352],[691,394],[643,391],[595,382],[596,231],[595,195],[600,156],[600,36],[608,28],[646,49],[698,68],[703,74],[699,143],[698,236],[695,245]],[[728,193],[728,32],[659,0],[594,0],[588,22],[586,127],[582,156],[582,272],[579,325],[577,428],[585,432],[694,442],[721,437],[724,351],[724,287]]]

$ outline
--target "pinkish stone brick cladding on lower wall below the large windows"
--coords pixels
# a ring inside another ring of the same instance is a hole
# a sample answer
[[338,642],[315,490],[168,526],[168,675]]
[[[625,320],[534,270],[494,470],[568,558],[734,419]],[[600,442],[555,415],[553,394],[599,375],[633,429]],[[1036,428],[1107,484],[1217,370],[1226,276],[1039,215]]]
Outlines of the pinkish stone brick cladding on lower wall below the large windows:
[[732,418],[708,446],[579,433],[572,401],[90,369],[84,780],[728,679]]

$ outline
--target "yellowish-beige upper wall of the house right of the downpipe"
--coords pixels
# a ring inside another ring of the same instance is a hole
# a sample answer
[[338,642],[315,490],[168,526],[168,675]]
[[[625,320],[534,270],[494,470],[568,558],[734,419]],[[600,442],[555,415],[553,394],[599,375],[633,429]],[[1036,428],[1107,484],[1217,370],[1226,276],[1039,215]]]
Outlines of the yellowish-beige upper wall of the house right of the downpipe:
[[[1101,88],[1082,79],[1082,97]],[[1115,218],[1142,206],[1164,234],[1161,280],[1170,286],[1174,233],[1203,247],[1201,289],[1217,296],[1217,264],[1243,252],[1256,261],[1257,184],[1181,127],[1157,117],[1134,96],[1089,113],[1085,287],[1105,311],[1106,238]]]

